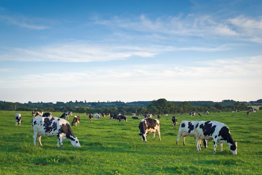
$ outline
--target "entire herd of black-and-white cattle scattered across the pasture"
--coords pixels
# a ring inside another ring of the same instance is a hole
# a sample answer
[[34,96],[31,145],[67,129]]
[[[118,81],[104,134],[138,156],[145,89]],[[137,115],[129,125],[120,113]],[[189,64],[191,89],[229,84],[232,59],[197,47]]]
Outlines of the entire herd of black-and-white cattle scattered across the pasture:
[[[252,109],[247,111],[247,115],[250,115],[250,112],[256,112],[256,109]],[[208,111],[205,112],[208,115]],[[95,116],[95,120],[100,120],[100,113],[93,113]],[[93,120],[93,114],[89,114],[89,121]],[[181,114],[181,113],[180,113]],[[195,113],[189,113],[191,116],[195,116]],[[198,113],[200,116],[200,113]],[[65,120],[69,119],[69,115],[72,116],[72,112],[66,112],[61,115],[60,118],[53,117],[52,113],[43,113],[42,111],[33,111],[32,112],[32,126],[34,134],[33,134],[33,142],[36,145],[36,138],[38,139],[39,145],[41,144],[41,136],[57,136],[57,147],[59,147],[59,142],[61,147],[63,148],[63,140],[68,138],[71,144],[74,147],[81,147],[77,137],[74,136],[72,129],[70,127],[70,123]],[[40,117],[41,116],[41,117]],[[110,121],[113,119],[117,121],[124,120],[127,122],[126,116],[121,114],[110,114],[110,113],[102,113],[102,117],[110,116]],[[132,116],[136,116],[135,113]],[[160,119],[161,116],[157,115],[157,119],[152,119],[152,114],[144,114],[144,119],[142,119],[139,123],[139,135],[141,136],[141,141],[144,140],[146,142],[146,137],[148,133],[153,133],[153,140],[155,140],[155,132],[159,135],[160,138]],[[62,119],[64,118],[64,119]],[[132,117],[132,119],[140,119],[138,117]],[[15,115],[15,125],[21,125],[22,116],[20,113]],[[80,117],[74,116],[71,125],[75,126],[79,125]],[[172,117],[173,126],[177,126],[177,118],[176,116]],[[214,149],[213,154],[215,154],[217,142],[220,144],[220,151],[222,151],[222,143],[228,143],[230,151],[236,155],[237,154],[237,142],[234,142],[231,133],[229,131],[229,127],[225,124],[217,121],[181,121],[179,124],[179,130],[177,135],[176,144],[178,145],[178,140],[182,136],[183,145],[185,145],[185,137],[194,136],[196,140],[197,151],[201,151],[201,140],[203,140],[204,147],[207,147],[208,141],[214,141]]]

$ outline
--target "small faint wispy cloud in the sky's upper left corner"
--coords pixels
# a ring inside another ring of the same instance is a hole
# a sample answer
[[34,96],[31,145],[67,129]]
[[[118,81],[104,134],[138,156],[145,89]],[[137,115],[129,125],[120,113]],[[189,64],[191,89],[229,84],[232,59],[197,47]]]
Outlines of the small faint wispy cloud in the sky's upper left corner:
[[39,21],[43,21],[43,20],[36,19],[36,18],[30,19],[22,15],[20,16],[0,15],[0,21],[6,24],[16,25],[19,27],[29,28],[33,30],[45,30],[49,28],[49,26],[47,25],[39,24]]

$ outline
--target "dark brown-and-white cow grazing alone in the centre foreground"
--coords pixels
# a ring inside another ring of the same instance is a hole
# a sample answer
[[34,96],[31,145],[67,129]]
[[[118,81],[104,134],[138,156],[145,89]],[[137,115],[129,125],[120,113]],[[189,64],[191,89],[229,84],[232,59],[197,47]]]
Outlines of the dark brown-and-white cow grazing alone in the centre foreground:
[[151,119],[151,118],[144,118],[139,123],[139,135],[141,136],[141,141],[144,140],[146,142],[146,136],[148,133],[153,132],[153,140],[155,140],[155,132],[157,131],[157,134],[160,138],[160,127],[159,127],[159,120],[157,119]]

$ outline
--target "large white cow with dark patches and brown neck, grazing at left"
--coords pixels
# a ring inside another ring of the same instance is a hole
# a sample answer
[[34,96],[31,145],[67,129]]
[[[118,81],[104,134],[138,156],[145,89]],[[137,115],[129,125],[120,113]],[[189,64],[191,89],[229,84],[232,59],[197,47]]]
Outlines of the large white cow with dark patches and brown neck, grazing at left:
[[72,132],[70,123],[65,119],[58,117],[34,117],[32,118],[32,127],[34,129],[34,145],[36,145],[37,138],[39,146],[43,146],[41,136],[44,135],[47,137],[57,136],[57,147],[59,147],[60,142],[61,148],[63,148],[63,140],[66,138],[70,140],[73,147],[81,147],[77,137]]

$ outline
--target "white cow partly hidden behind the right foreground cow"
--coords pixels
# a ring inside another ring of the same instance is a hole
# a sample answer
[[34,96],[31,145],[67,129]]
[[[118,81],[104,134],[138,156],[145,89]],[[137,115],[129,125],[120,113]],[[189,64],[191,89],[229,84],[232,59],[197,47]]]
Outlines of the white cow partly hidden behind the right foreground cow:
[[[178,140],[180,136],[182,136],[183,139],[183,145],[185,145],[185,137],[187,136],[194,136],[194,126],[195,121],[181,121],[179,124],[178,134],[176,138],[176,145],[178,145]],[[204,140],[204,147],[207,148],[207,140]],[[200,142],[200,146],[201,142]]]

